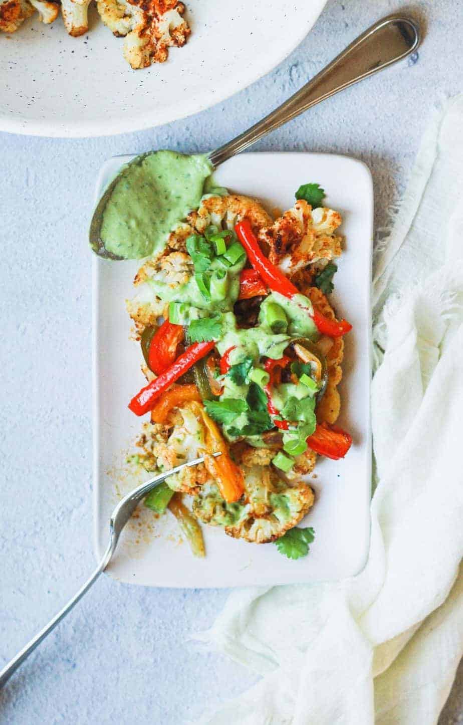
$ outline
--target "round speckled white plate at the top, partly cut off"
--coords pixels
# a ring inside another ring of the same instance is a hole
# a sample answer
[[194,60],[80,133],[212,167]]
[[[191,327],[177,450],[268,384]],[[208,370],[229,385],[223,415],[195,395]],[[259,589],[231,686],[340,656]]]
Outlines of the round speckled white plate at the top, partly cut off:
[[309,32],[326,0],[186,0],[192,35],[167,62],[132,70],[90,8],[71,38],[62,18],[35,14],[0,34],[0,130],[34,136],[109,136],[204,110],[278,65]]

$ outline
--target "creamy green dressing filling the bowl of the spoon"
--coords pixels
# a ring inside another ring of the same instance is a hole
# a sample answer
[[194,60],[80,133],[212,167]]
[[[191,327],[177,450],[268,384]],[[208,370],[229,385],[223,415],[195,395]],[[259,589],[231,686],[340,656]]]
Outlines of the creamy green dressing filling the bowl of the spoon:
[[161,252],[172,226],[199,207],[212,173],[206,154],[141,154],[119,174],[101,223],[101,241],[112,254],[141,259]]

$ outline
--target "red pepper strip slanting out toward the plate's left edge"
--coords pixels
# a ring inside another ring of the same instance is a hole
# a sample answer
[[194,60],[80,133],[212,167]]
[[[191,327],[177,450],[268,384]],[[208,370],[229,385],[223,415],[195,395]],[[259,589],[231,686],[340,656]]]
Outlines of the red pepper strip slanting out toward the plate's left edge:
[[170,388],[172,383],[175,383],[178,378],[181,378],[183,373],[186,373],[192,365],[197,363],[198,360],[201,360],[201,357],[207,355],[213,347],[215,347],[214,340],[210,340],[209,342],[195,342],[193,345],[190,345],[190,347],[183,352],[183,355],[180,355],[180,357],[175,360],[175,363],[170,365],[170,368],[164,370],[164,373],[161,373],[156,380],[142,388],[141,391],[130,400],[128,406],[130,410],[132,410],[135,415],[144,415],[145,413],[148,413],[148,411],[154,407],[154,403],[164,390]]

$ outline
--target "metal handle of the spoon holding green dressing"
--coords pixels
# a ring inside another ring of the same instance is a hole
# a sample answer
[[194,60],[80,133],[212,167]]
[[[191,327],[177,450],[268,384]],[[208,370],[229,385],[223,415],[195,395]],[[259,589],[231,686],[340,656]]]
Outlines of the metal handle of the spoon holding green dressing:
[[300,91],[240,136],[211,152],[209,159],[217,167],[306,109],[405,58],[419,43],[420,33],[412,20],[397,15],[383,18],[365,30]]

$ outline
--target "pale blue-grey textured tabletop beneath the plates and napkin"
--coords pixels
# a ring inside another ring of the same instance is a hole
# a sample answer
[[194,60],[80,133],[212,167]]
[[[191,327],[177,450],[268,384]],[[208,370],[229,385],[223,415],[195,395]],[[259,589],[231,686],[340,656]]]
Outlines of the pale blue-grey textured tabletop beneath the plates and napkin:
[[[341,152],[372,169],[378,227],[403,188],[427,114],[462,91],[460,1],[330,0],[274,72],[168,127],[81,141],[0,134],[1,637],[7,660],[73,594],[91,544],[91,258],[85,228],[96,173],[113,154],[203,150],[293,93],[381,15],[412,9],[418,57],[294,120],[258,148]],[[104,577],[0,696],[10,724],[179,724],[237,695],[249,673],[198,653],[224,591],[143,589]],[[462,722],[462,672],[441,724]]]

